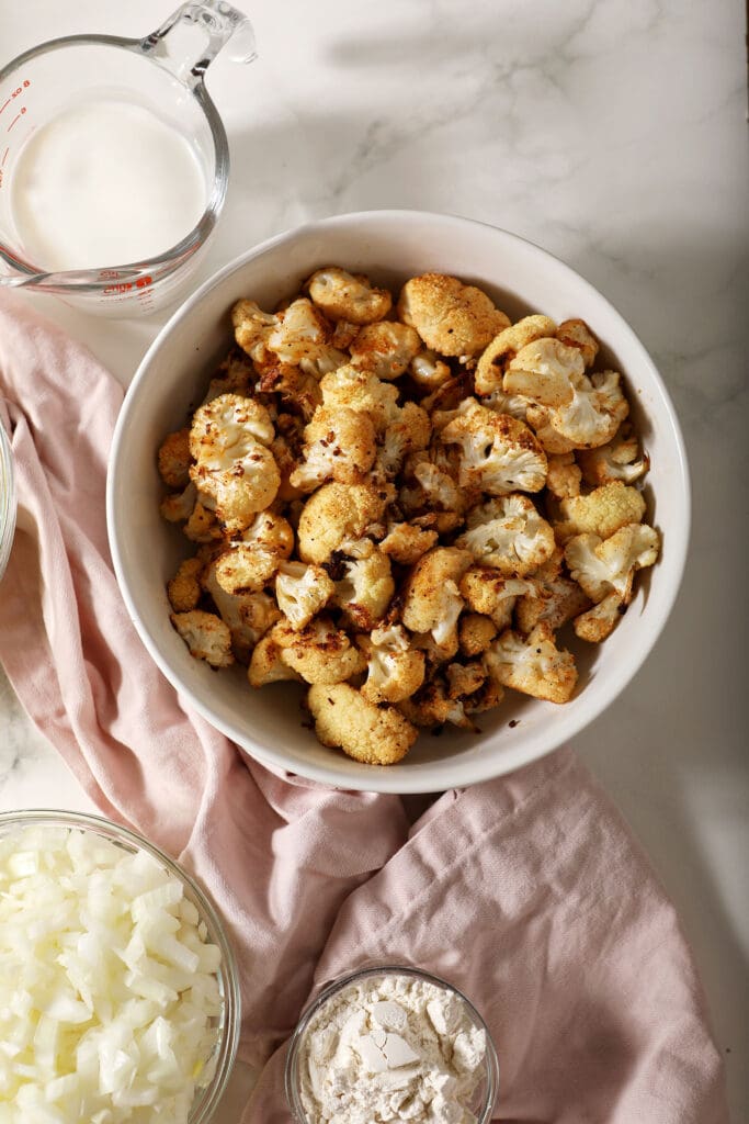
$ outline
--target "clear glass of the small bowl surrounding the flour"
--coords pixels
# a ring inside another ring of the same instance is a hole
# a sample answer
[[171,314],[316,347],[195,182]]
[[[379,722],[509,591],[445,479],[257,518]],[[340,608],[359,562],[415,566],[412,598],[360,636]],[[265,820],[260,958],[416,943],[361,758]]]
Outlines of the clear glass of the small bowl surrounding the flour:
[[346,976],[341,976],[331,984],[327,985],[320,995],[302,1014],[302,1017],[296,1025],[296,1030],[289,1042],[284,1075],[286,1100],[289,1102],[289,1107],[299,1124],[316,1124],[316,1121],[312,1120],[305,1111],[301,1095],[301,1068],[303,1059],[302,1048],[312,1019],[322,1009],[322,1007],[329,1003],[330,999],[339,995],[350,985],[356,985],[365,980],[399,976],[423,980],[427,984],[432,984],[435,987],[441,988],[451,996],[456,996],[463,1005],[464,1012],[468,1016],[468,1021],[472,1025],[484,1032],[486,1037],[486,1053],[484,1055],[483,1073],[476,1085],[471,1103],[465,1107],[474,1114],[477,1124],[488,1124],[488,1121],[492,1118],[492,1112],[494,1111],[494,1104],[496,1102],[499,1089],[499,1061],[496,1050],[492,1041],[492,1035],[490,1034],[486,1023],[471,1000],[453,984],[441,979],[439,976],[432,976],[430,972],[424,972],[420,968],[411,968],[401,964],[371,964],[366,968],[360,968],[357,971],[348,972]]

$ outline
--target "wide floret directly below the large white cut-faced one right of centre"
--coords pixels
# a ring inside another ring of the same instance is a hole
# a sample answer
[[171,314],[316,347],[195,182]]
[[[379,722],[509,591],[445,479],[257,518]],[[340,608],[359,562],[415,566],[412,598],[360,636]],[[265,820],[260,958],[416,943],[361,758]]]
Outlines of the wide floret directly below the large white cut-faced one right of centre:
[[467,524],[456,546],[510,577],[524,578],[554,553],[554,531],[527,496],[501,496],[475,507]]

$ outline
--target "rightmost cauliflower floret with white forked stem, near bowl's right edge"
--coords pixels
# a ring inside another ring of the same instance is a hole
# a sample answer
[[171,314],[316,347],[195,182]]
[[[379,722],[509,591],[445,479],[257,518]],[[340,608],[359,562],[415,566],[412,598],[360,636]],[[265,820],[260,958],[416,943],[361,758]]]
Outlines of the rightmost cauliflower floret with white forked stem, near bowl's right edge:
[[609,538],[590,533],[575,535],[565,546],[565,561],[574,580],[596,605],[612,590],[628,605],[634,571],[654,565],[659,546],[652,527],[628,523]]

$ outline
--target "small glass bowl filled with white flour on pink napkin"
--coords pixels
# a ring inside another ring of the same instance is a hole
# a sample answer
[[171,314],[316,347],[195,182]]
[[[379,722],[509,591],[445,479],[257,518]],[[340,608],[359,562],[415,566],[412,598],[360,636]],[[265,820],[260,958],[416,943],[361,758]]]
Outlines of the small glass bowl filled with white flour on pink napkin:
[[483,1018],[446,980],[372,967],[330,984],[289,1045],[300,1124],[486,1124],[497,1060]]

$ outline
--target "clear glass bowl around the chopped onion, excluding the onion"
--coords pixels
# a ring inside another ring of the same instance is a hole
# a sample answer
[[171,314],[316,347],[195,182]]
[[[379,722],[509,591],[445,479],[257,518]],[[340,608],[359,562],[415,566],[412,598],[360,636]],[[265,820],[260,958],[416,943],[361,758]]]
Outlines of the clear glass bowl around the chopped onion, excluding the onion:
[[241,998],[239,994],[239,973],[231,945],[229,944],[222,922],[205,892],[180,867],[153,843],[141,835],[121,827],[101,816],[92,816],[77,812],[56,812],[34,809],[24,812],[6,812],[0,814],[0,839],[25,827],[68,827],[98,835],[130,853],[146,852],[170,874],[182,882],[184,897],[198,910],[200,921],[205,925],[207,939],[218,945],[221,951],[221,963],[217,976],[219,992],[222,999],[222,1012],[216,1022],[216,1046],[205,1069],[213,1069],[210,1081],[204,1087],[195,1089],[195,1096],[190,1109],[188,1124],[208,1124],[223,1095],[231,1073],[237,1046],[239,1043]]

